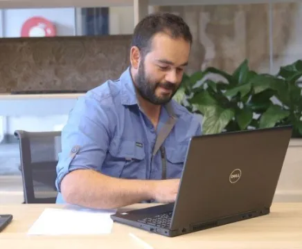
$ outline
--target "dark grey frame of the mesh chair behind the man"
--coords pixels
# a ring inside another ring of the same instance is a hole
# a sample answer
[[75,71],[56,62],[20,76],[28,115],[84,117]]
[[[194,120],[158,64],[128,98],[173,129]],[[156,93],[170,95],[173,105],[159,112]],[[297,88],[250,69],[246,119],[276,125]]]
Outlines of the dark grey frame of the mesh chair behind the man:
[[[37,199],[33,186],[33,168],[31,163],[30,139],[61,136],[61,131],[31,132],[16,130],[15,137],[19,140],[22,182],[24,187],[24,203],[55,203],[55,197]],[[47,167],[47,166],[46,166]],[[53,163],[49,165],[53,167]]]

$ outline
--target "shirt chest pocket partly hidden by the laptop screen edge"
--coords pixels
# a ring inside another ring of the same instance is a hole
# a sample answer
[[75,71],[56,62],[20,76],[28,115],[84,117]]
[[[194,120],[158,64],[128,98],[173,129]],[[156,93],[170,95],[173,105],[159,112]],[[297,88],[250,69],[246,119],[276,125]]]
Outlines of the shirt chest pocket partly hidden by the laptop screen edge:
[[180,178],[186,160],[188,143],[166,147],[167,178]]

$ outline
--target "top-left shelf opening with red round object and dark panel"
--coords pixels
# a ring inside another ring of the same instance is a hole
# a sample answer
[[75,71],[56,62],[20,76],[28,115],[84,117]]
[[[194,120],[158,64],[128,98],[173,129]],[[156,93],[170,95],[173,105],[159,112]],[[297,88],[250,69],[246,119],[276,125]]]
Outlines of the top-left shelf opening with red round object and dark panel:
[[0,37],[127,35],[132,6],[0,9]]

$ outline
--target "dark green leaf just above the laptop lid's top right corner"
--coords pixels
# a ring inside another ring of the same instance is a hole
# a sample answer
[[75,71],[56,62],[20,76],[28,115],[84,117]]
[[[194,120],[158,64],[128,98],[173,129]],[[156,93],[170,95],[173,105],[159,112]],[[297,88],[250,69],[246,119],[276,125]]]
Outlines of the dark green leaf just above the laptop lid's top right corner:
[[260,128],[274,127],[277,122],[290,116],[290,111],[283,110],[281,106],[272,104],[260,118]]

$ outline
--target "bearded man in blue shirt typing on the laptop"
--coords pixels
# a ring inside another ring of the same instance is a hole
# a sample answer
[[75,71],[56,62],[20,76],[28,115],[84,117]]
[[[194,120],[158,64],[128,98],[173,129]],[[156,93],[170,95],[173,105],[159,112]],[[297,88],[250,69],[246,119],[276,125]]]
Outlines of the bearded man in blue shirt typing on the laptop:
[[[148,15],[137,24],[130,68],[80,98],[62,130],[57,203],[119,208],[175,201],[188,140],[201,133],[199,119],[171,100],[191,43],[175,15]],[[166,138],[157,144],[159,133]]]

